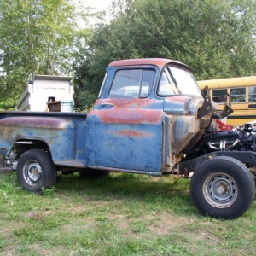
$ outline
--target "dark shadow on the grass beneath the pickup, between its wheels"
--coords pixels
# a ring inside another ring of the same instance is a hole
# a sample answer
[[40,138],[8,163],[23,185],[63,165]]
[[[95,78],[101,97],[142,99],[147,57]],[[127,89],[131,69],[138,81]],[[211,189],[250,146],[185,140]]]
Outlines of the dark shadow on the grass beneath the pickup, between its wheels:
[[151,210],[166,209],[177,214],[197,214],[189,196],[189,180],[177,176],[113,173],[108,177],[84,179],[78,173],[62,175],[56,188],[59,194],[86,196],[95,201],[137,201]]

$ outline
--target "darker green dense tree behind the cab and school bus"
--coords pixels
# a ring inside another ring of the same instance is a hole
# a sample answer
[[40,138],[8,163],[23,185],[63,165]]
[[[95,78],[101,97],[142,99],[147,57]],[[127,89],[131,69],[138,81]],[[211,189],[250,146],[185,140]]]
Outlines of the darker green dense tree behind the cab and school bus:
[[255,74],[255,14],[255,0],[115,1],[113,20],[95,26],[90,50],[80,56],[79,106],[96,96],[104,67],[118,59],[183,61],[195,69],[196,79]]

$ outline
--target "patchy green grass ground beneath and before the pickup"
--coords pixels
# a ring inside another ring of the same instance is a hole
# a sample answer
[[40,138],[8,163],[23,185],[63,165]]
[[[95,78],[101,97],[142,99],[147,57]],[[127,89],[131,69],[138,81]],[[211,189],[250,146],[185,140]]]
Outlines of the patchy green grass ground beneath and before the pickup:
[[254,255],[256,203],[231,221],[202,217],[189,180],[63,175],[35,195],[0,173],[1,255]]

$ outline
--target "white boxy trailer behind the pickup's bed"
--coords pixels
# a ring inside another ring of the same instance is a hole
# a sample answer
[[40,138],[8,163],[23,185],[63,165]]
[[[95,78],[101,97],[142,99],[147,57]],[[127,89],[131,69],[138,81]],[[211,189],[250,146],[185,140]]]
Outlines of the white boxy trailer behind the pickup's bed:
[[48,111],[48,102],[60,102],[62,112],[73,112],[71,77],[35,75],[20,97],[16,111]]

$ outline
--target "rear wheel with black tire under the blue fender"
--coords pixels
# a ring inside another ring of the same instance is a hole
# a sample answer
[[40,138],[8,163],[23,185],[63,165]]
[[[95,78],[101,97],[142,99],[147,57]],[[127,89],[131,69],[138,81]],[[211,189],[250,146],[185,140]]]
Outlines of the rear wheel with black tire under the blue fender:
[[48,153],[32,149],[20,156],[17,165],[18,182],[24,189],[41,193],[42,187],[50,188],[56,182],[57,172]]

